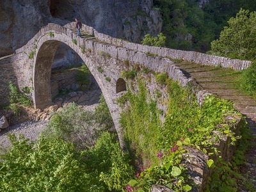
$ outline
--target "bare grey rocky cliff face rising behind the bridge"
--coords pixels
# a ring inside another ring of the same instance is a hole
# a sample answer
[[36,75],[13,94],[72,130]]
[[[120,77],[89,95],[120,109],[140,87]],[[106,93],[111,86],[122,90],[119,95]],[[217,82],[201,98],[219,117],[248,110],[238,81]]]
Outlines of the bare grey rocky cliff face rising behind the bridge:
[[26,44],[49,22],[67,24],[80,19],[100,33],[141,42],[147,33],[161,32],[160,13],[153,0],[1,0],[0,56]]

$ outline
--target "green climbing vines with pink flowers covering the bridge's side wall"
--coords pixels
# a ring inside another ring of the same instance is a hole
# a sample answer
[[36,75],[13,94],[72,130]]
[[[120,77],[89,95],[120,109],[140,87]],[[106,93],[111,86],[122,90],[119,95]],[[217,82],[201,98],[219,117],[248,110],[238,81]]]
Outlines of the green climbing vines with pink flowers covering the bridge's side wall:
[[[230,102],[207,95],[200,108],[195,95],[188,88],[182,88],[170,79],[165,82],[169,100],[164,124],[159,118],[156,101],[150,98],[141,80],[138,93],[128,90],[122,96],[125,99],[118,99],[123,104],[125,100],[129,102],[122,112],[120,124],[125,130],[125,141],[131,158],[141,172],[129,182],[134,190],[148,191],[152,184],[157,183],[177,191],[189,191],[194,184],[179,165],[181,154],[185,152],[184,145],[193,145],[211,155],[218,154],[215,148],[218,138],[212,131],[228,134],[233,141],[231,144],[240,138],[234,136],[232,126],[228,126],[224,120],[225,116],[237,114]],[[218,163],[221,160],[207,161],[209,167],[218,166]],[[220,170],[218,175],[231,170],[230,164]],[[177,182],[172,182],[174,179]],[[225,182],[225,188],[230,189],[235,184],[232,179],[228,181],[230,184]]]

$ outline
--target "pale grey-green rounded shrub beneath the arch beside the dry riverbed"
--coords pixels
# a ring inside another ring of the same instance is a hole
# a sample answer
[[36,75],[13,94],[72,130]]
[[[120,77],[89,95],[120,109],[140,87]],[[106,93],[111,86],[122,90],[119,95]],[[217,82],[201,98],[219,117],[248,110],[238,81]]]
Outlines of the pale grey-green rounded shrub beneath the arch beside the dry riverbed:
[[70,141],[77,148],[87,148],[92,146],[99,136],[99,131],[93,126],[93,119],[92,112],[84,111],[73,102],[52,116],[47,125],[47,134]]

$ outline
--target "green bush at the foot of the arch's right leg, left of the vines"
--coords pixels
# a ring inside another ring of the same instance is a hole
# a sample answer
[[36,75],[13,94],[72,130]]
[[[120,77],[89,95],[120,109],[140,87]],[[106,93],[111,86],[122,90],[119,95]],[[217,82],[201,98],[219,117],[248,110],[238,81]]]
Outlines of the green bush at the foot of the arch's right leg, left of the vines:
[[109,191],[122,191],[134,173],[127,154],[122,153],[115,135],[109,132],[104,132],[95,146],[85,152],[85,156],[90,172],[100,177]]

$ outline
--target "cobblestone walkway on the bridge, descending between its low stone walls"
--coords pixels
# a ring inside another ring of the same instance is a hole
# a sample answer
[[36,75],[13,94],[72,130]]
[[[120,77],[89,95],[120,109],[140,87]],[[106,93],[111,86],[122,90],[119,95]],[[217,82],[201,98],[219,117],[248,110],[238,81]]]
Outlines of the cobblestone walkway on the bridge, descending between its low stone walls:
[[[204,90],[209,91],[222,99],[230,100],[234,107],[246,116],[246,121],[256,136],[256,100],[237,89],[237,79],[241,72],[227,68],[199,65],[196,63],[175,63],[187,77],[193,77]],[[246,182],[239,184],[237,191],[256,191],[256,139],[245,154],[245,165],[241,166],[240,172],[246,179],[252,182],[254,189],[246,189]]]

